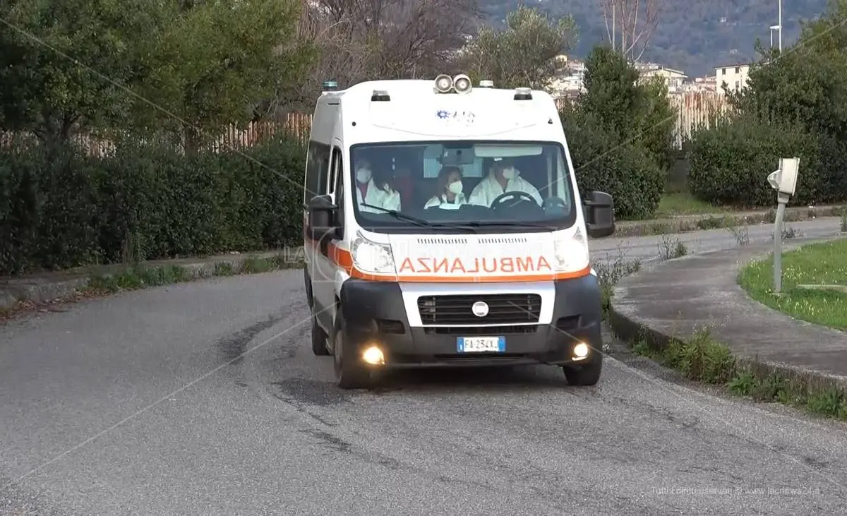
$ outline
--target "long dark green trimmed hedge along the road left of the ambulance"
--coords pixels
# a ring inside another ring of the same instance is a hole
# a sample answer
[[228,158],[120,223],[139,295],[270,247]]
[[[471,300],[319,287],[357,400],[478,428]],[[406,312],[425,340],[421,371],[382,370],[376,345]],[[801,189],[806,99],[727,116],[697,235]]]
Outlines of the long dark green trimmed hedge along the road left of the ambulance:
[[137,144],[109,158],[0,153],[0,275],[296,243],[304,150],[274,140],[246,156]]

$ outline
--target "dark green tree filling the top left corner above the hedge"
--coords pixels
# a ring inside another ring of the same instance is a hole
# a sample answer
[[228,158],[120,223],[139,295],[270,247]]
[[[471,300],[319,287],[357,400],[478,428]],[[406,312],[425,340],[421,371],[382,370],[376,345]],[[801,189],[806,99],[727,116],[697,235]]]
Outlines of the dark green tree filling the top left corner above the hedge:
[[156,2],[0,0],[3,126],[64,141],[124,119],[138,49],[166,20]]

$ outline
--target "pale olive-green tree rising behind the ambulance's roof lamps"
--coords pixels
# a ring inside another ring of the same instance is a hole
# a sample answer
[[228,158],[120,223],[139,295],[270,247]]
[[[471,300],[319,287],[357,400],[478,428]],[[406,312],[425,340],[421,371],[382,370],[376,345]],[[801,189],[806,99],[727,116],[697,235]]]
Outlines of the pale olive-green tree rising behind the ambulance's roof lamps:
[[463,51],[468,69],[498,87],[543,89],[564,63],[558,59],[576,43],[570,16],[550,19],[534,8],[519,7],[506,18],[506,28],[484,27]]

